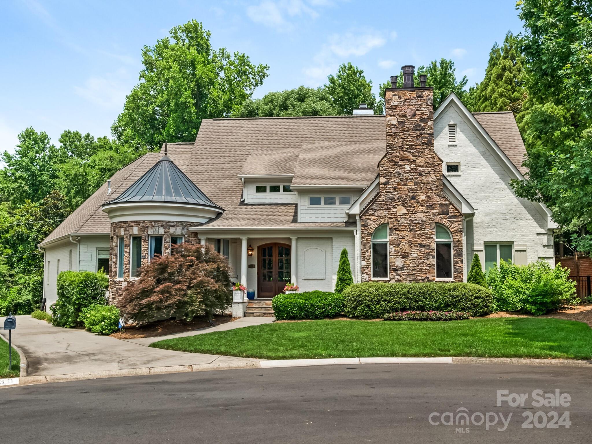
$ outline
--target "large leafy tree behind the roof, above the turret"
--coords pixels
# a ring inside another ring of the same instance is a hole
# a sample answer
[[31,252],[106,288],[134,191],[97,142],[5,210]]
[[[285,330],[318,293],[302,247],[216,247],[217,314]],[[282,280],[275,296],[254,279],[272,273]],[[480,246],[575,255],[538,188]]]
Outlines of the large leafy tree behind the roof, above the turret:
[[164,141],[193,141],[201,120],[228,117],[268,76],[243,53],[214,50],[211,34],[191,20],[170,30],[155,46],[144,46],[138,83],[111,127],[121,144],[137,150]]

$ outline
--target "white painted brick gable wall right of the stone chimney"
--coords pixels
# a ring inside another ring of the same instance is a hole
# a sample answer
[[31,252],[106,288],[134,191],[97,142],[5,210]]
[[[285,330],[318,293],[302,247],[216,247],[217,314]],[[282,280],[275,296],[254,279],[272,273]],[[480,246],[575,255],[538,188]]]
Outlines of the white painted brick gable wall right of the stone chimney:
[[[448,144],[449,123],[457,126],[455,146]],[[529,262],[545,257],[553,265],[552,239],[546,230],[545,218],[532,202],[514,195],[506,170],[454,107],[439,116],[434,134],[434,149],[443,162],[461,162],[461,175],[448,178],[475,208],[472,236],[467,230],[472,237],[466,240],[468,264],[474,254],[471,250],[474,244],[513,242],[527,245]],[[483,262],[482,250],[477,252]]]

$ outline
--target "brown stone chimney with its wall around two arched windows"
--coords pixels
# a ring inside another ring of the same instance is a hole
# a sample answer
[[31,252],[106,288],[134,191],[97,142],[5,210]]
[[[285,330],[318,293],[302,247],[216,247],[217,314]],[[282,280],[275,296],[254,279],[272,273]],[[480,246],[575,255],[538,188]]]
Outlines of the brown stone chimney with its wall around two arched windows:
[[462,214],[443,192],[442,160],[434,152],[433,89],[387,89],[387,153],[380,191],[361,215],[362,281],[372,276],[371,239],[389,224],[391,282],[436,279],[435,223],[451,231],[454,280],[462,282]]

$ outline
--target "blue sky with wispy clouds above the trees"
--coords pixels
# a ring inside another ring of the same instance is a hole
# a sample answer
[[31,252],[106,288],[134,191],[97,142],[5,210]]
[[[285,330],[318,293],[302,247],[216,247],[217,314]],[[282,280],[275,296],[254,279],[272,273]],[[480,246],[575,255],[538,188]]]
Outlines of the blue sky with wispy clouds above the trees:
[[403,65],[442,57],[457,78],[485,75],[495,41],[522,25],[516,0],[0,1],[0,152],[32,126],[54,143],[66,129],[110,136],[138,83],[141,49],[191,19],[214,48],[269,65],[254,98],[321,86],[352,62],[379,83]]

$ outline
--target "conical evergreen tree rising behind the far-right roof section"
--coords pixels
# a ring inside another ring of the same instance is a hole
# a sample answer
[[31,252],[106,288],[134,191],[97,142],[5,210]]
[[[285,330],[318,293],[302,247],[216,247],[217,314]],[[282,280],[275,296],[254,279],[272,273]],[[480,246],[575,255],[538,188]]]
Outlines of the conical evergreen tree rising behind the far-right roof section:
[[500,47],[494,43],[485,69],[485,78],[469,94],[474,94],[471,111],[522,112],[525,100],[524,56],[520,53],[519,41],[508,31]]

